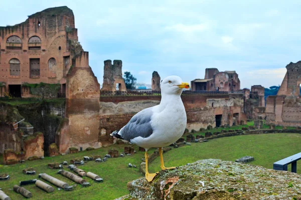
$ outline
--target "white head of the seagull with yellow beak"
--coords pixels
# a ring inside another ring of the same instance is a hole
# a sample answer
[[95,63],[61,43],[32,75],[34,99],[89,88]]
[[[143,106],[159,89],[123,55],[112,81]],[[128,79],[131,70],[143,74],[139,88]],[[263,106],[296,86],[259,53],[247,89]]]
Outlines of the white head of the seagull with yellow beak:
[[189,88],[188,82],[183,82],[177,75],[167,76],[161,81],[161,92],[181,95],[183,88]]

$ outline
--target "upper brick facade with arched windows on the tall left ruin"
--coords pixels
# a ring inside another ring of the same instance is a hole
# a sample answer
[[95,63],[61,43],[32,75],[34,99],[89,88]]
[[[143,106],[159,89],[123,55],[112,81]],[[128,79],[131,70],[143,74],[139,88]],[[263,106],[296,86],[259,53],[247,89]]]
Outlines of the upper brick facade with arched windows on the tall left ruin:
[[[0,27],[0,82],[14,96],[32,97],[23,83],[58,83],[64,96],[66,75],[80,58],[74,15],[66,6],[48,8],[25,22]],[[84,54],[85,55],[85,54]]]

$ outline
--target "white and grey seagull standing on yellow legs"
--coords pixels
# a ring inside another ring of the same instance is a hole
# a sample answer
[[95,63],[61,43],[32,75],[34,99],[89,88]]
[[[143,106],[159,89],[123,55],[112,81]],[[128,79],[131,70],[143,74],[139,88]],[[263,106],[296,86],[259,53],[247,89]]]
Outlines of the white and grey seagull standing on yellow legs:
[[162,147],[176,142],[184,133],[187,116],[181,99],[183,88],[189,88],[179,76],[171,75],[161,81],[161,102],[136,113],[129,122],[110,135],[145,148],[145,178],[151,182],[157,173],[148,172],[149,148],[159,148],[161,169],[165,167]]

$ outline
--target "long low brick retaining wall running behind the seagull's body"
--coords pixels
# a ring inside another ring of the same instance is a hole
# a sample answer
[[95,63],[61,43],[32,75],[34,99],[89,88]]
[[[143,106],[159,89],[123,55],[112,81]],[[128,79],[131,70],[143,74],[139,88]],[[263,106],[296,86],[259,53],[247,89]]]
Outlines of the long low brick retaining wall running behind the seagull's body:
[[[229,95],[182,95],[187,114],[187,129],[199,130],[213,127],[215,115],[222,114],[222,125],[232,125],[233,116],[237,123],[245,123],[243,99],[229,98]],[[124,126],[138,111],[159,104],[161,96],[101,96],[100,97],[100,134],[99,141],[104,145],[113,142],[109,134]],[[212,102],[215,105],[212,106]]]

